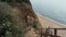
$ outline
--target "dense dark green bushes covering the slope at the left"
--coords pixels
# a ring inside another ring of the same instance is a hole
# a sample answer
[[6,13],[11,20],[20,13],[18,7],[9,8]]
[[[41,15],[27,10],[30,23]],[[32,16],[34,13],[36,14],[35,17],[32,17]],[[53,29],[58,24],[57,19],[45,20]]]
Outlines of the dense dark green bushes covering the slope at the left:
[[23,37],[25,28],[21,26],[22,21],[16,20],[16,14],[14,17],[10,13],[13,13],[11,7],[6,2],[0,2],[0,37]]

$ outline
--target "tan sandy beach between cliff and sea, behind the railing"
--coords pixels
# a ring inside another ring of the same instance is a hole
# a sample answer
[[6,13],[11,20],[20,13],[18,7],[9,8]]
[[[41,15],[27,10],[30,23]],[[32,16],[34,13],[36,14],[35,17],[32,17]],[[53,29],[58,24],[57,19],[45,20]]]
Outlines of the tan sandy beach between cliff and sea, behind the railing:
[[[56,21],[50,20],[45,16],[42,16],[37,14],[38,21],[43,28],[47,28],[48,26],[51,28],[65,28],[64,24],[57,23]],[[66,37],[66,30],[58,30],[57,35],[61,37]]]

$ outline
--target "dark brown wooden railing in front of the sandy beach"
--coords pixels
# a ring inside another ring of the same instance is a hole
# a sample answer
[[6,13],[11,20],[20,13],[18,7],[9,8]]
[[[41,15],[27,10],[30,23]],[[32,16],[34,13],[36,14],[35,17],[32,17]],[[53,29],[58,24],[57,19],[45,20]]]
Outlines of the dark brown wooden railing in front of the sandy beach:
[[[59,35],[57,35],[57,30],[66,30],[66,28],[41,28],[40,34],[41,37],[62,37]],[[52,33],[52,30],[54,33]]]

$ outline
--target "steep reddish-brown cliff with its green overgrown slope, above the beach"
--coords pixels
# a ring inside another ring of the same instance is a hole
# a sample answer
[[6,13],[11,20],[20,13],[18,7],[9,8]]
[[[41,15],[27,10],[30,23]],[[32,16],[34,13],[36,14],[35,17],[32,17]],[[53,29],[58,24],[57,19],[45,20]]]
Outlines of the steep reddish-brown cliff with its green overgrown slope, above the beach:
[[[32,10],[30,0],[0,0],[0,10],[2,10],[0,13],[2,13],[2,17],[4,17],[2,21],[6,21],[1,25],[9,25],[8,27],[2,27],[6,30],[1,28],[4,30],[4,33],[2,32],[4,34],[3,36],[23,37],[31,28],[40,29],[40,23],[36,14]],[[6,15],[8,17],[6,17]],[[7,32],[9,35],[6,35]]]

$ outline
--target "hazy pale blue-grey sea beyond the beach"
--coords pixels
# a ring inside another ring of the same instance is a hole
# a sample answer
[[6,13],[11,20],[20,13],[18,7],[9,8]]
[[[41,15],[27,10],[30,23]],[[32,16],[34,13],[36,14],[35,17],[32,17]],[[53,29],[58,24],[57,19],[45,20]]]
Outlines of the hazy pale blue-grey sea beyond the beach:
[[31,0],[33,10],[66,25],[66,0]]

